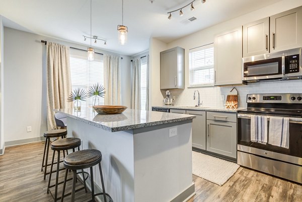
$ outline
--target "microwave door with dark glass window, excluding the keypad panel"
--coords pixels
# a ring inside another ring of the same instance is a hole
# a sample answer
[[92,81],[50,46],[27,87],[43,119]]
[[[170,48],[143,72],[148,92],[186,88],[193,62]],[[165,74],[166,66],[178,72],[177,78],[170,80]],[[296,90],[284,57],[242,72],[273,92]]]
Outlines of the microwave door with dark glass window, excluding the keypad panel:
[[276,57],[243,63],[243,80],[282,79],[285,74],[285,57]]

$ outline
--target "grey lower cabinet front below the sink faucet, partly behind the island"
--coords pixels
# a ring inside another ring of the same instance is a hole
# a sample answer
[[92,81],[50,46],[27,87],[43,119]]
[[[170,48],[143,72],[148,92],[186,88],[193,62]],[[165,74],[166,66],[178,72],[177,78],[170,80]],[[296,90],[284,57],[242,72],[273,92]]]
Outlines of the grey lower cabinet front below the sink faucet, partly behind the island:
[[196,115],[192,123],[192,147],[205,150],[206,144],[206,118],[205,111],[187,110],[187,114]]

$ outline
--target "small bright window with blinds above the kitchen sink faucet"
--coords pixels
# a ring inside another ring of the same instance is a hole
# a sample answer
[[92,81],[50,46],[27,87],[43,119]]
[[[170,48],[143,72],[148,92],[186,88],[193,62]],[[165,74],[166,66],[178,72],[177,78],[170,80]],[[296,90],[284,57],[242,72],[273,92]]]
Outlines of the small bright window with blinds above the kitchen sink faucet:
[[214,83],[214,47],[204,45],[189,51],[189,86],[212,86]]

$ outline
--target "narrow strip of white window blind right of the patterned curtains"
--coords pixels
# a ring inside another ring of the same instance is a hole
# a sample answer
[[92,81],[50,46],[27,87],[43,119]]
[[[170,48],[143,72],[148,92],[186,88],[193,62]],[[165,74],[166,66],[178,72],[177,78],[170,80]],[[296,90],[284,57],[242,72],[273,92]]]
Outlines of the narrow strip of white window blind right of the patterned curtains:
[[146,110],[147,59],[140,60],[140,109]]

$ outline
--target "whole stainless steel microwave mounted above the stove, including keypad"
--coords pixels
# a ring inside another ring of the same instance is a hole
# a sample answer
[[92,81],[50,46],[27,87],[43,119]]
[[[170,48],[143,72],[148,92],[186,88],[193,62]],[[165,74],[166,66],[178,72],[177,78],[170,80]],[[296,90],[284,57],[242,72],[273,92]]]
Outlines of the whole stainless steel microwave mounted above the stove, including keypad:
[[244,57],[243,81],[281,81],[301,79],[301,48]]

